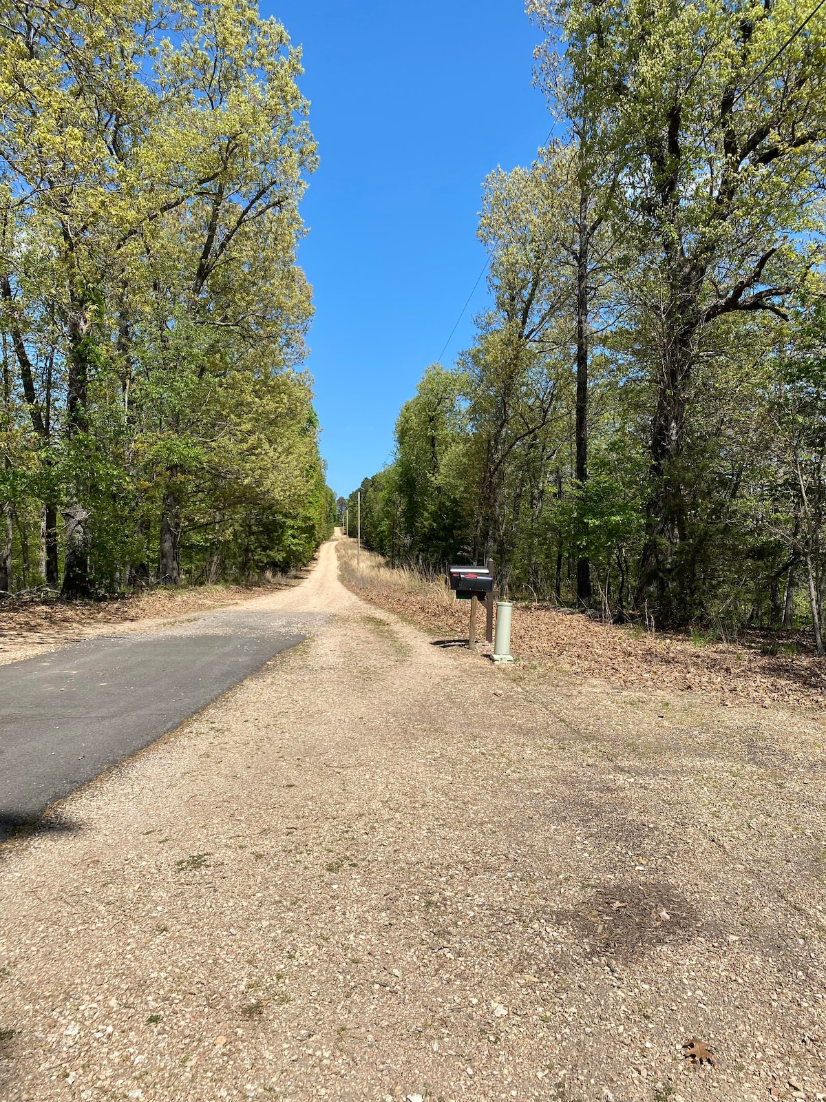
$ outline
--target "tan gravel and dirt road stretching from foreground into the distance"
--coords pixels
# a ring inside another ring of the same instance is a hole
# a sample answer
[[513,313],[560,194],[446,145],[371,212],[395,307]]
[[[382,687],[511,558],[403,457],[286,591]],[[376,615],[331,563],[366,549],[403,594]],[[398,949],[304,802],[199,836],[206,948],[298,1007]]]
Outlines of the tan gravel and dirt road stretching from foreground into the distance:
[[826,1094],[822,720],[435,647],[333,543],[244,607],[332,618],[0,860],[3,1100]]

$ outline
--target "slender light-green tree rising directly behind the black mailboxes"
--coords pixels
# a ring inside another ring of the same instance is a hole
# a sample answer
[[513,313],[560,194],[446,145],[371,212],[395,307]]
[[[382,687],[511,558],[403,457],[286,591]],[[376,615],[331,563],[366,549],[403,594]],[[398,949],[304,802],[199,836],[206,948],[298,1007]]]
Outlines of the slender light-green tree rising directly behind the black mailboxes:
[[486,181],[479,237],[491,252],[492,309],[480,317],[479,338],[461,360],[468,413],[477,441],[478,522],[474,557],[496,551],[509,575],[509,466],[542,436],[565,386],[564,349],[572,324],[567,255],[570,175],[558,150],[531,170],[501,170]]

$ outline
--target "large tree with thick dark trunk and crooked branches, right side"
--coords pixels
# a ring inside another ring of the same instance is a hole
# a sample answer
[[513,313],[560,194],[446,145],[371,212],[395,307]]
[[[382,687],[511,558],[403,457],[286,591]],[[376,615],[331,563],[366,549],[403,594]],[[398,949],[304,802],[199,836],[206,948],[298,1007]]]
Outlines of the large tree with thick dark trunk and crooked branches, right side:
[[680,613],[692,379],[724,317],[782,315],[805,278],[801,235],[814,228],[826,136],[826,17],[802,28],[814,4],[535,7],[563,28],[565,62],[608,105],[622,151],[621,194],[644,261],[634,305],[657,352],[640,584]]

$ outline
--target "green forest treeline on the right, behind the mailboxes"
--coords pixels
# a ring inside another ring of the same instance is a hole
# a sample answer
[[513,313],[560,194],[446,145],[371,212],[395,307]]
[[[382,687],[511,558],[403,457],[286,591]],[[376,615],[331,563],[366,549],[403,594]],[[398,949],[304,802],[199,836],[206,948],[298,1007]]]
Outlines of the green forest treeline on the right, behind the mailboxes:
[[528,7],[558,138],[486,181],[488,304],[362,483],[366,541],[822,651],[826,8]]

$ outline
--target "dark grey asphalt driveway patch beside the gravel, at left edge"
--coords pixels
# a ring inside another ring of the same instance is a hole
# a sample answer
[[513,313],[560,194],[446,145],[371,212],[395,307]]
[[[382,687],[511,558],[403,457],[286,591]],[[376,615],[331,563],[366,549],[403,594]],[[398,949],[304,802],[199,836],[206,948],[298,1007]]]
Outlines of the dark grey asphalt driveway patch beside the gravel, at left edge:
[[0,666],[0,840],[301,642],[296,626],[208,614]]

